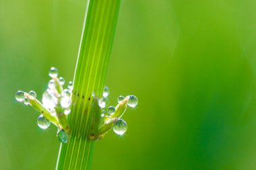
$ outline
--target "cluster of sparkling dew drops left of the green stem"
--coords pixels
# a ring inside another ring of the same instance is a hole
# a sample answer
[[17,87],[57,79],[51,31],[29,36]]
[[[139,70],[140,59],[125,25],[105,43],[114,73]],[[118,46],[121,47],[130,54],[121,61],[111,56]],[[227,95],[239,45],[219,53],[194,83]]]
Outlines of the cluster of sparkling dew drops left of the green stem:
[[[51,116],[56,116],[56,110],[55,107],[57,106],[58,103],[61,104],[61,108],[64,109],[64,114],[68,115],[71,110],[71,91],[73,89],[73,82],[69,81],[67,85],[67,89],[63,89],[63,92],[61,94],[58,93],[57,91],[57,85],[55,83],[55,80],[59,74],[58,69],[55,67],[51,67],[49,71],[49,76],[52,78],[49,83],[48,83],[48,88],[44,93],[42,94],[42,105],[44,108],[48,109],[51,112]],[[63,77],[59,77],[59,84],[63,86],[65,84],[65,79]],[[26,98],[25,95],[26,92],[24,91],[18,91],[15,94],[15,98],[17,101],[23,102],[25,105],[30,105],[29,99]],[[34,91],[30,91],[28,95],[36,98],[36,93]],[[46,128],[49,128],[51,122],[44,118],[44,116],[41,114],[38,117],[37,120],[38,127],[45,130]],[[68,140],[68,134],[64,132],[63,130],[59,129],[57,132],[57,138],[61,142],[67,142]]]

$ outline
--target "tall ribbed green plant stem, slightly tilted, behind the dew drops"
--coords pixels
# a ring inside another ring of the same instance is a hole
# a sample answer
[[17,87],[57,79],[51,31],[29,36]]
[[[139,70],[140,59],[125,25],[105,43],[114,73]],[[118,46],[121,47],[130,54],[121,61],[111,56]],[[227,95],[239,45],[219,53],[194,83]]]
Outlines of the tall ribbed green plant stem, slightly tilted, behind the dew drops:
[[92,122],[92,93],[102,95],[113,46],[121,0],[89,0],[75,69],[71,136],[61,144],[56,169],[90,169],[94,141],[88,140]]

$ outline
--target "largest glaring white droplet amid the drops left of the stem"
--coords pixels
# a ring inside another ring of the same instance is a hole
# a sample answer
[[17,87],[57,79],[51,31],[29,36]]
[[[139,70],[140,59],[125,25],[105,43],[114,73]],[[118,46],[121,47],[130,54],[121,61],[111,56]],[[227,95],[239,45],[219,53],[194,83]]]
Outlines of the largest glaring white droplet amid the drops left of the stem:
[[55,108],[58,103],[58,98],[54,95],[53,91],[46,90],[42,94],[42,104],[45,108]]

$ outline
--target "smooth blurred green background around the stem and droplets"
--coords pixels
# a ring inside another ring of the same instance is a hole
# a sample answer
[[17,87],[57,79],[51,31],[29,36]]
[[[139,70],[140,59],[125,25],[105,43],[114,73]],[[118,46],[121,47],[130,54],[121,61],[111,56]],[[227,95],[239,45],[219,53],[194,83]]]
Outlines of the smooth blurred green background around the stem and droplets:
[[[0,169],[55,169],[56,128],[15,101],[41,99],[49,68],[72,80],[82,0],[0,0]],[[92,169],[256,169],[256,1],[122,0],[106,85],[134,94],[128,130]]]

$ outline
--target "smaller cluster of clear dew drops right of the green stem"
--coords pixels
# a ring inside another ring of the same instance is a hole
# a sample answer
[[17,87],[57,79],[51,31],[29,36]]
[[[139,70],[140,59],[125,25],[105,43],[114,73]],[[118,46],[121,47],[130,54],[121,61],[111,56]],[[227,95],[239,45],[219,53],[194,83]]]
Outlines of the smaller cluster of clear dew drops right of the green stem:
[[[113,116],[113,114],[115,114],[115,111],[116,111],[116,108],[114,106],[109,106],[107,108],[108,103],[109,103],[108,95],[109,95],[109,88],[105,86],[104,90],[103,90],[102,98],[99,100],[99,106],[100,106],[100,108],[102,108],[101,116],[103,117],[105,124],[108,124],[112,120],[111,116]],[[131,108],[135,108],[135,106],[138,103],[137,97],[135,97],[135,95],[128,95],[127,97],[129,97],[127,105]],[[121,103],[124,99],[125,99],[125,97],[123,95],[120,95],[117,98],[117,101],[118,101],[118,103]],[[106,114],[106,112],[108,114]],[[123,135],[123,134],[125,134],[126,130],[127,130],[127,123],[125,122],[125,120],[119,118],[113,126],[113,131],[116,134]]]

